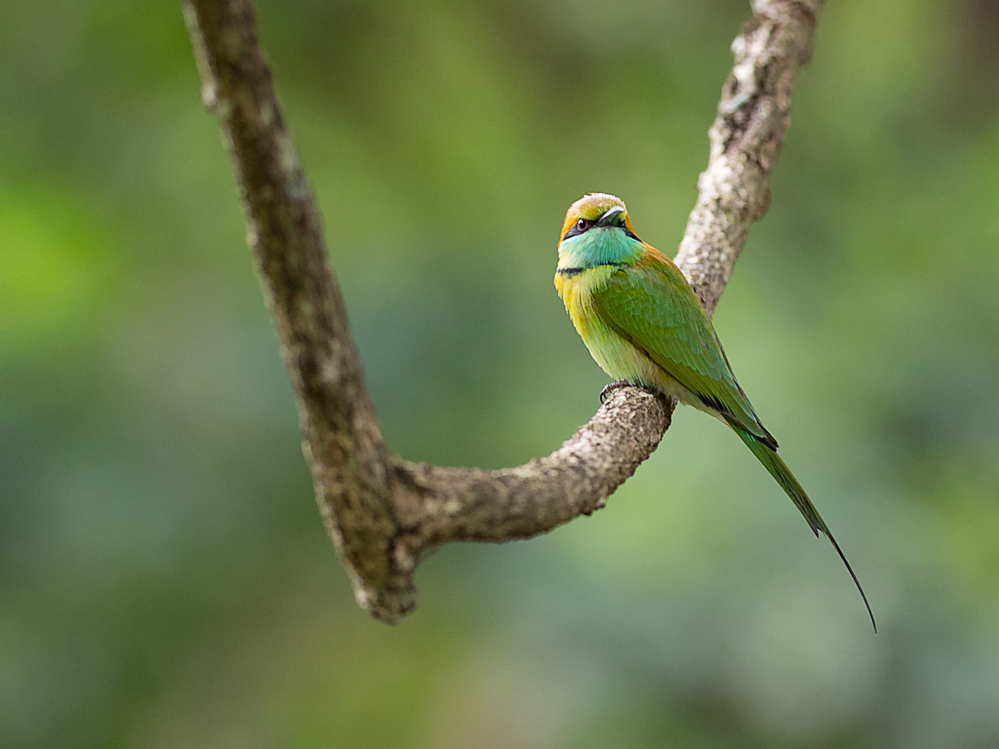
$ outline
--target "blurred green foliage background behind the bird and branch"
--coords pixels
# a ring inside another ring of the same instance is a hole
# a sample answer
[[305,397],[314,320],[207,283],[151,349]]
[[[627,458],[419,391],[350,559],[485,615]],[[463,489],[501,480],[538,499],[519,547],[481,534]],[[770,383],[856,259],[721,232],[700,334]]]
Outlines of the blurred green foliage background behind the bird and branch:
[[[501,466],[606,377],[563,212],[672,254],[741,0],[266,0],[390,444]],[[0,745],[999,745],[999,5],[823,12],[715,318],[849,577],[680,409],[606,509],[354,604],[178,5],[0,24]]]

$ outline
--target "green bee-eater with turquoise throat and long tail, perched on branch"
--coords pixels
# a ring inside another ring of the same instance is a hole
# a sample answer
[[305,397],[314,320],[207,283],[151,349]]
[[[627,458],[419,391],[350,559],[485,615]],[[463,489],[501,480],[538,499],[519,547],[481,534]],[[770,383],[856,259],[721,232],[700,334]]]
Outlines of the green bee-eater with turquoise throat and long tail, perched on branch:
[[777,454],[777,440],[739,386],[711,320],[680,270],[638,239],[624,203],[585,195],[565,214],[554,278],[558,297],[596,364],[616,381],[607,393],[639,385],[710,413],[739,435],[846,565],[877,622],[867,595],[829,526]]

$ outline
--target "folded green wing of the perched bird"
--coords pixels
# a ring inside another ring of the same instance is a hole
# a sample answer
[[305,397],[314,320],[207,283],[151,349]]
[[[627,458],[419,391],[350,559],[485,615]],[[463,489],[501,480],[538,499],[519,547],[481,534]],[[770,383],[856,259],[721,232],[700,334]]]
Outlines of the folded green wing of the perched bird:
[[775,449],[776,441],[735,381],[700,302],[667,263],[646,255],[612,274],[593,294],[597,314],[704,405]]

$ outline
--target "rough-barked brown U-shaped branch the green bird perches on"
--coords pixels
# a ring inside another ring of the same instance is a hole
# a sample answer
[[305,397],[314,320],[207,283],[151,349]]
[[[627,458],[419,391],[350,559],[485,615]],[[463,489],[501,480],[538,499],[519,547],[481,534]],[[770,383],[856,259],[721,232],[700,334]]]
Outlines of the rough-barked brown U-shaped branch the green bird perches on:
[[[708,313],[750,224],[788,124],[823,0],[753,0],[710,130],[707,170],[676,263]],[[395,622],[416,605],[421,555],[450,540],[528,538],[589,514],[651,454],[673,402],[614,390],[550,455],[501,470],[404,460],[382,436],[322,222],[264,62],[249,0],[183,0],[202,78],[236,170],[247,243],[298,396],[303,451],[358,603]]]

